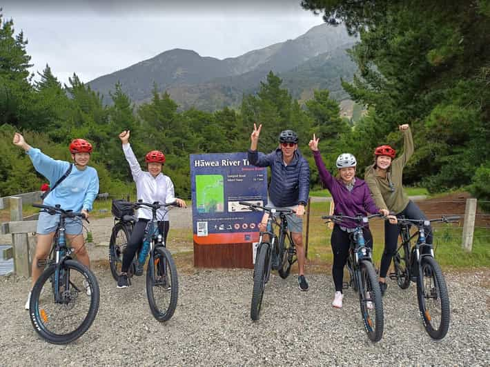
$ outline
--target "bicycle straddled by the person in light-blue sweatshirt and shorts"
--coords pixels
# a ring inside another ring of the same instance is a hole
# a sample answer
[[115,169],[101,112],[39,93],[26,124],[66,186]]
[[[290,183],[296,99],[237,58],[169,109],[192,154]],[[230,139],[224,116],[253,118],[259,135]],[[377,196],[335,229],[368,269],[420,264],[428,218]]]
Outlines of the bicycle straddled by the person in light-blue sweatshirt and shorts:
[[[38,265],[46,266],[37,279],[29,304],[32,326],[52,344],[68,344],[84,335],[99,310],[99,283],[95,275],[70,256],[66,246],[66,218],[85,218],[81,212],[63,210],[59,205],[32,204],[50,215],[60,215],[50,256]],[[86,288],[90,295],[86,295]]]

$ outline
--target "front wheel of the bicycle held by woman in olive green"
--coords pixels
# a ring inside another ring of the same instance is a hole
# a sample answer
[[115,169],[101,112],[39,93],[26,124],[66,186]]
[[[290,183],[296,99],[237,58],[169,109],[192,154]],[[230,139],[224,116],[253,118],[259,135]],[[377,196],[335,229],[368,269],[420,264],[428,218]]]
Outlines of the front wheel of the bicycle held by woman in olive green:
[[433,339],[442,339],[449,330],[449,295],[440,266],[433,257],[421,261],[422,279],[417,281],[417,298],[425,330]]

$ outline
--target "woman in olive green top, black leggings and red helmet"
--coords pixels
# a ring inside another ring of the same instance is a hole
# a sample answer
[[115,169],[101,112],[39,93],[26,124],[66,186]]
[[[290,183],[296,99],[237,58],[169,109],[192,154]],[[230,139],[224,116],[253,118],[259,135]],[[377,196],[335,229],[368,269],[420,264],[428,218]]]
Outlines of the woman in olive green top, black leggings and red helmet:
[[[374,164],[366,168],[364,180],[371,190],[371,195],[376,206],[380,209],[388,209],[397,217],[409,219],[427,219],[420,208],[406,195],[402,186],[403,168],[413,155],[413,138],[410,127],[407,124],[399,126],[403,133],[403,154],[398,158],[391,146],[378,146],[374,150]],[[425,228],[427,244],[432,244],[432,229]],[[380,265],[380,288],[384,295],[386,291],[386,273],[391,264],[391,258],[396,253],[400,226],[384,222],[384,252]]]

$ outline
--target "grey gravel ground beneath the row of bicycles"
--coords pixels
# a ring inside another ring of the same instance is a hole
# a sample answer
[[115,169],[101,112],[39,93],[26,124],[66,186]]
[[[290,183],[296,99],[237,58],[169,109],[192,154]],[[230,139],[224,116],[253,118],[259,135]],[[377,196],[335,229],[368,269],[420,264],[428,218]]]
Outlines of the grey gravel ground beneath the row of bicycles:
[[415,287],[390,282],[384,298],[384,337],[366,337],[357,297],[346,290],[344,308],[330,306],[329,275],[310,275],[310,291],[295,277],[271,276],[261,319],[250,319],[252,270],[179,274],[179,303],[170,321],[153,319],[144,277],[119,290],[110,271],[95,267],[101,304],[88,332],[68,346],[46,343],[23,310],[28,279],[0,279],[0,366],[489,366],[489,270],[447,274],[451,326],[433,341],[418,315]]

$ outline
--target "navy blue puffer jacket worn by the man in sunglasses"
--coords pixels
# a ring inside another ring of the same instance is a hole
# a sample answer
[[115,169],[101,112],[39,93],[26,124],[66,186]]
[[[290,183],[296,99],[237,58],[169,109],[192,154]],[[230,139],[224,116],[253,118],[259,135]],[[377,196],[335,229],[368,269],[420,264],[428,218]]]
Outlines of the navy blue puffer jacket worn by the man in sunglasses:
[[306,205],[310,193],[310,167],[299,150],[287,166],[282,151],[277,148],[268,155],[257,150],[248,150],[248,161],[257,167],[271,166],[269,197],[277,207]]

